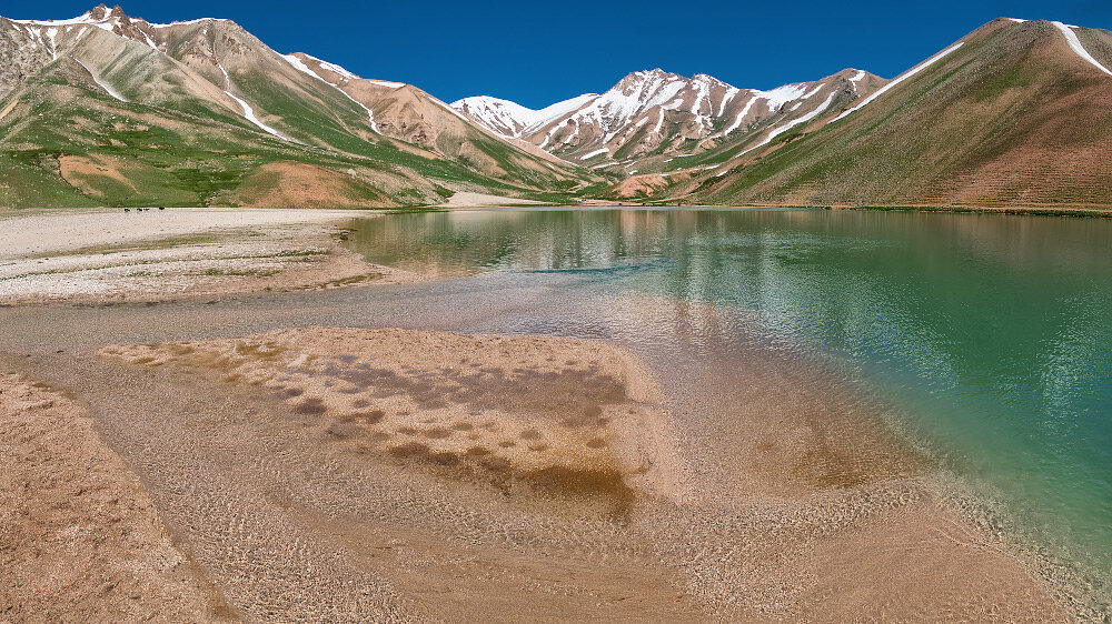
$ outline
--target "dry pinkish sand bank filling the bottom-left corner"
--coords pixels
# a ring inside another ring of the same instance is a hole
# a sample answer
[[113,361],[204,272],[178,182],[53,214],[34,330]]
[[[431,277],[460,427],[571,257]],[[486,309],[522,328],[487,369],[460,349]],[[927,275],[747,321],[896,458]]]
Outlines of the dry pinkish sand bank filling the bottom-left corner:
[[0,374],[0,621],[238,620],[72,402]]

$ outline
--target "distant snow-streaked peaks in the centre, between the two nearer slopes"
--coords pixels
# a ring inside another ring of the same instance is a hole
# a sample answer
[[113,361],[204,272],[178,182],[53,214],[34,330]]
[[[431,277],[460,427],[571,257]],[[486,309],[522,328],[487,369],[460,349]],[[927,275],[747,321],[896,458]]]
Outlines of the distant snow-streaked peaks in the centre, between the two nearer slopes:
[[867,97],[884,83],[865,71],[845,70],[761,91],[738,89],[703,73],[685,78],[654,69],[631,73],[602,94],[579,95],[540,110],[488,95],[451,105],[504,137],[602,168],[619,160],[696,153],[770,120],[786,130],[794,120],[803,122],[835,103]]

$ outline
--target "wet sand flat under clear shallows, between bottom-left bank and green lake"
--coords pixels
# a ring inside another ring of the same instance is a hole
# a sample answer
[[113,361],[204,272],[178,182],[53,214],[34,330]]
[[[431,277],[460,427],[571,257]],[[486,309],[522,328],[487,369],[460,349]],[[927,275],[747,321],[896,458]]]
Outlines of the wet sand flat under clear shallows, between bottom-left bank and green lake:
[[820,363],[560,279],[0,309],[0,369],[247,621],[1069,620]]

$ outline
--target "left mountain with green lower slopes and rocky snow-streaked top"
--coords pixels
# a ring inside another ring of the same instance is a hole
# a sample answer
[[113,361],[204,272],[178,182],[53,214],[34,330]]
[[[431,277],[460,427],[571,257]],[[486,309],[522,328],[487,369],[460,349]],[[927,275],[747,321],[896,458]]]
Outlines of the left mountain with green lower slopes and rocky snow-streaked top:
[[0,205],[420,205],[599,178],[235,22],[0,18]]

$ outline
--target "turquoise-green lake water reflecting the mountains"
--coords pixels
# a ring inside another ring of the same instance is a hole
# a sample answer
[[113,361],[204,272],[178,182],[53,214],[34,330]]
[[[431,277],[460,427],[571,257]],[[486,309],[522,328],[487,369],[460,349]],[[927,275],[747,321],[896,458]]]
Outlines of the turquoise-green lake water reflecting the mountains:
[[575,271],[744,312],[898,406],[1010,530],[1112,570],[1112,221],[507,209],[353,228],[378,263]]

